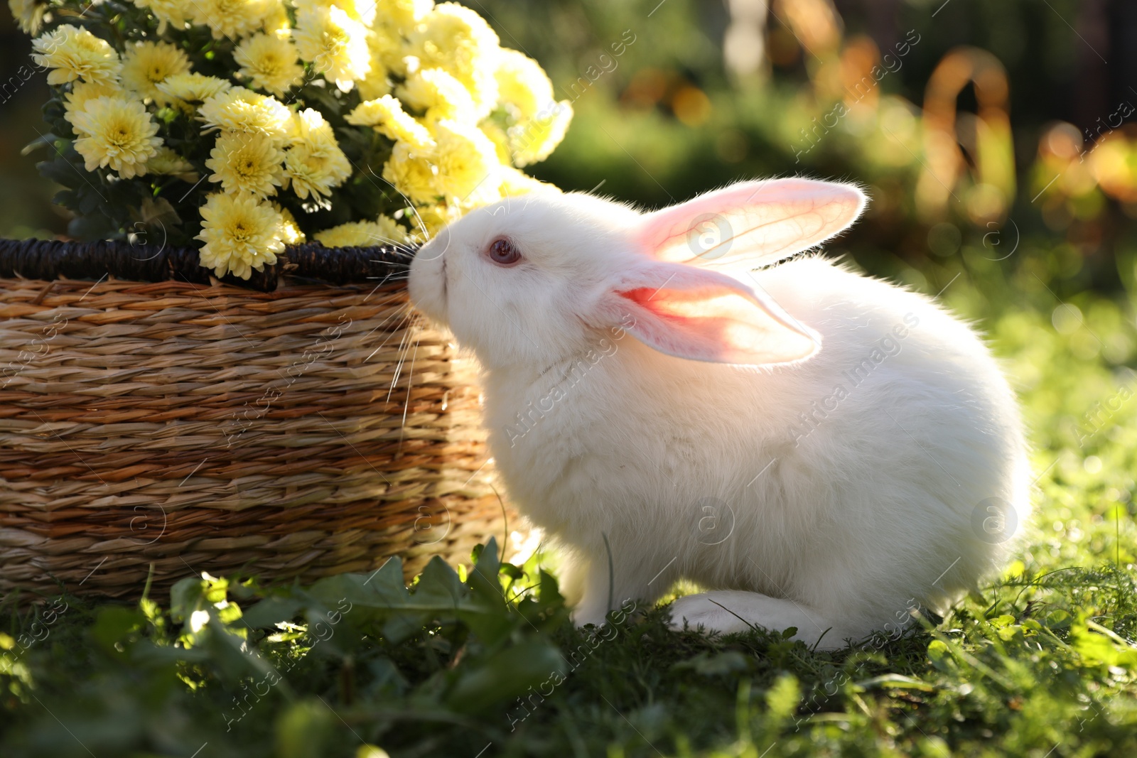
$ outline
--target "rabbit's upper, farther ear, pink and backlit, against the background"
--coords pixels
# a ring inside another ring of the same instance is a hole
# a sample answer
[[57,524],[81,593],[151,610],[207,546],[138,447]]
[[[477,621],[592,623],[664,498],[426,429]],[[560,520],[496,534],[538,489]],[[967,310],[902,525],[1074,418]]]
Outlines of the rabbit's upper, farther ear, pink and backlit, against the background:
[[865,202],[864,192],[852,184],[739,182],[644,215],[637,238],[657,260],[757,268],[846,230]]

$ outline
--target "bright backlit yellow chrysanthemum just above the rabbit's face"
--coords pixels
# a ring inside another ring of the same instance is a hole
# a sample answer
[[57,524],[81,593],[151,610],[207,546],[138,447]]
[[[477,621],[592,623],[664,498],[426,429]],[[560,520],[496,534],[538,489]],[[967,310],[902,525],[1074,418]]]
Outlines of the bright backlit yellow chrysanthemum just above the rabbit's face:
[[438,144],[438,189],[447,202],[463,207],[480,206],[500,199],[501,178],[493,142],[476,126],[443,120],[434,126]]

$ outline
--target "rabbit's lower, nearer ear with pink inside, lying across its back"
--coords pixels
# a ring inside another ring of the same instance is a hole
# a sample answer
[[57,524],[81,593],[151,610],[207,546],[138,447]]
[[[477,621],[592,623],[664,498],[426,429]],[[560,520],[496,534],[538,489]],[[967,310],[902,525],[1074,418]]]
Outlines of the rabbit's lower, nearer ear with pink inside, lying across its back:
[[717,272],[645,263],[609,284],[600,299],[605,326],[619,326],[669,356],[764,366],[808,358],[813,330],[769,295]]

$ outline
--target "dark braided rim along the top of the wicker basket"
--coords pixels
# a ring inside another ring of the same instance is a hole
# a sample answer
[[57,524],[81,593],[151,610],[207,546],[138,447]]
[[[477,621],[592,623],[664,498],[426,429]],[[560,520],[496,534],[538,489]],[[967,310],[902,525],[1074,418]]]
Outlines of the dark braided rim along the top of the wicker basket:
[[[147,245],[127,241],[0,239],[0,278],[102,281],[108,276],[135,282],[209,284],[213,272],[198,263],[197,248],[163,245],[149,253]],[[247,290],[274,292],[285,275],[326,285],[380,284],[406,278],[415,248],[325,248],[318,242],[291,244],[276,264],[254,270],[248,280],[226,274],[219,281]]]

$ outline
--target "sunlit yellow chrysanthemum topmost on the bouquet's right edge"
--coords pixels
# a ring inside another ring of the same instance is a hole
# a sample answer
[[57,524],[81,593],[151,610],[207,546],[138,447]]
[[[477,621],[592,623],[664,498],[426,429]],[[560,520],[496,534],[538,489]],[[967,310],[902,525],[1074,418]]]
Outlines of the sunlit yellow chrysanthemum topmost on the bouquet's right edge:
[[484,118],[498,101],[497,34],[475,11],[456,2],[443,2],[426,14],[410,34],[412,55],[422,68],[441,68],[470,92],[475,120]]

